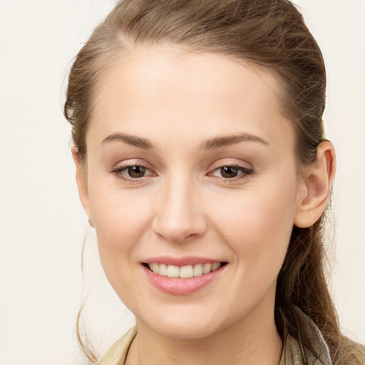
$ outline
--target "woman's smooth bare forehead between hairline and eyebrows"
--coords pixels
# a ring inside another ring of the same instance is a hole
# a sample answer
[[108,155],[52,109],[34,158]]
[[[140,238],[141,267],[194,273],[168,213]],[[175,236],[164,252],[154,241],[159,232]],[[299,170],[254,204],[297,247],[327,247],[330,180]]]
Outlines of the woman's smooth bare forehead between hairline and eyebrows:
[[[272,71],[215,53],[174,46],[136,46],[108,69],[96,87],[91,136],[115,131],[181,138],[252,133],[276,143],[292,140]],[[93,130],[97,133],[93,133]]]

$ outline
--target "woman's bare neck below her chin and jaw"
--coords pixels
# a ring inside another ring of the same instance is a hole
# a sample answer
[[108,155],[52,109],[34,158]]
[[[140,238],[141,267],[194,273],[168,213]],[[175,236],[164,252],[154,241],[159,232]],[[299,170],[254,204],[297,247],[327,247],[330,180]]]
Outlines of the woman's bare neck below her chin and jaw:
[[174,339],[137,319],[138,336],[127,365],[277,365],[282,339],[272,312],[255,313],[202,339]]

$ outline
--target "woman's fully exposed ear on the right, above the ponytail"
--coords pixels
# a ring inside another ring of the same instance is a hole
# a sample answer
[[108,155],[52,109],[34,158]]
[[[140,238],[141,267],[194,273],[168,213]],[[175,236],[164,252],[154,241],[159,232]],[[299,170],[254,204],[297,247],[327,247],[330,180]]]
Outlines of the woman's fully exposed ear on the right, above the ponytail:
[[336,172],[334,145],[324,140],[317,147],[317,158],[304,174],[302,196],[294,217],[294,225],[299,228],[313,225],[327,207],[329,194]]

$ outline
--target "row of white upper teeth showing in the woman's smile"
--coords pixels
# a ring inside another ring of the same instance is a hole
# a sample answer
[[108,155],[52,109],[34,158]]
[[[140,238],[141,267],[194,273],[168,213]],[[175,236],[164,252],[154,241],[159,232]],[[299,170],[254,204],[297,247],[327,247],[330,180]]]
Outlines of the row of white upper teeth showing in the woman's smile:
[[189,279],[190,277],[199,277],[202,274],[209,274],[222,266],[220,262],[214,262],[213,264],[195,264],[178,267],[175,265],[167,264],[148,264],[150,270],[155,274],[159,274],[163,277],[180,277],[182,279]]

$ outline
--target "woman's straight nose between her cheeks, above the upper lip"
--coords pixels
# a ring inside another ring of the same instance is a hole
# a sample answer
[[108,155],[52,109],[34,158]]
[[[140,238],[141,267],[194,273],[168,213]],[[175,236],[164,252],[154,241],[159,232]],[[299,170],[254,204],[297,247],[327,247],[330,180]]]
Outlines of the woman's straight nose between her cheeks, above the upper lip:
[[197,189],[187,179],[174,178],[156,195],[153,231],[170,242],[185,242],[202,236],[207,220]]

